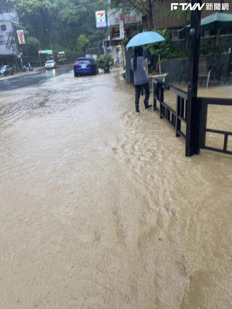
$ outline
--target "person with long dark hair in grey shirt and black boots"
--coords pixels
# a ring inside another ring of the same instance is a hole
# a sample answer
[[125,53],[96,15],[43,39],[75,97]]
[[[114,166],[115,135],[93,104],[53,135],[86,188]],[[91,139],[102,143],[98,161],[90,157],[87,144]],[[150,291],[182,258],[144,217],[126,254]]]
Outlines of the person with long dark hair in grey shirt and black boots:
[[147,63],[143,57],[143,48],[142,46],[135,46],[134,58],[131,59],[131,66],[134,72],[134,85],[135,85],[135,110],[139,110],[139,99],[142,88],[145,89],[145,99],[144,105],[145,108],[150,108],[152,105],[148,105],[148,100],[150,96],[150,89],[148,83],[148,76],[146,70],[148,69]]

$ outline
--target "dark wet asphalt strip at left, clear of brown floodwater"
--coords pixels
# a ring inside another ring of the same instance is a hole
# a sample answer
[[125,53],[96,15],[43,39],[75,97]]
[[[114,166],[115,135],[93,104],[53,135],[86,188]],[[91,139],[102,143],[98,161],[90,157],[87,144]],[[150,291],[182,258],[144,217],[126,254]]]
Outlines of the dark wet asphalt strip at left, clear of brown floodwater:
[[2,78],[0,78],[0,91],[8,91],[32,85],[39,85],[50,78],[54,78],[61,74],[68,73],[71,69],[71,65],[57,66],[56,70],[46,71],[45,68],[41,68],[36,72],[30,72],[28,74],[26,73],[20,76],[15,75],[11,78],[6,78],[5,76],[2,76]]

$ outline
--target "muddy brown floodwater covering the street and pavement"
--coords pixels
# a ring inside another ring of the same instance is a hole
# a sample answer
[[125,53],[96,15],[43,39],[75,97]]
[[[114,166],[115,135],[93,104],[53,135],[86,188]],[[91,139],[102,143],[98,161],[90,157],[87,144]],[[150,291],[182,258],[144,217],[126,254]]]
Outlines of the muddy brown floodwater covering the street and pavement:
[[0,308],[232,308],[232,156],[185,157],[119,72],[1,92]]

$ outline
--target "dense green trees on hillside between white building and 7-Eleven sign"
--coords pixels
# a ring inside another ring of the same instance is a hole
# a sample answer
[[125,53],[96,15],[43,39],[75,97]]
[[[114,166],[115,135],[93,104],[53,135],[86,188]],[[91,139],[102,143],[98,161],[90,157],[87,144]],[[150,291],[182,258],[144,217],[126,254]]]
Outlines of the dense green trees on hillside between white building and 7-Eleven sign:
[[107,29],[96,29],[95,21],[95,11],[106,10],[107,0],[7,1],[15,5],[29,53],[50,49],[49,35],[53,49],[65,51],[79,50],[80,44],[83,51],[88,45],[102,46],[107,37]]

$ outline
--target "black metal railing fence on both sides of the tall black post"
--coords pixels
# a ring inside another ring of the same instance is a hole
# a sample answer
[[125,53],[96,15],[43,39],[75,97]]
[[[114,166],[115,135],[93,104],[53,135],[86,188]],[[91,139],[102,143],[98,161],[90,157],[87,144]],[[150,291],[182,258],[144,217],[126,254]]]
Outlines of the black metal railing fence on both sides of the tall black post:
[[[172,109],[164,102],[164,90],[171,91],[176,94],[176,110]],[[160,108],[157,107],[157,100],[159,101]],[[196,135],[199,136],[198,146],[202,149],[208,149],[218,152],[223,152],[232,155],[232,151],[227,150],[228,136],[232,135],[232,132],[220,131],[207,128],[207,111],[209,104],[215,105],[230,105],[232,106],[231,99],[216,99],[216,98],[197,98],[197,104],[199,107],[199,126],[196,128]],[[176,87],[165,84],[157,79],[153,79],[153,110],[159,111],[160,118],[165,119],[175,129],[176,137],[182,136],[186,138],[186,135],[181,130],[181,124],[186,124],[186,110],[187,110],[187,92],[182,91]],[[223,148],[213,148],[205,144],[206,132],[213,132],[224,135]]]

